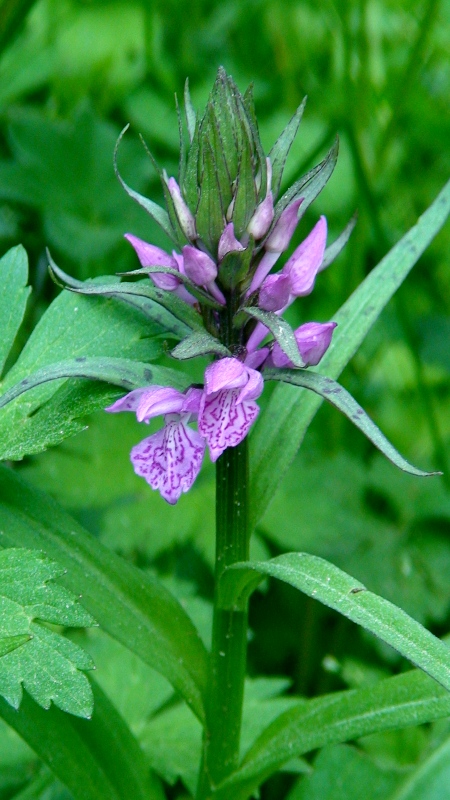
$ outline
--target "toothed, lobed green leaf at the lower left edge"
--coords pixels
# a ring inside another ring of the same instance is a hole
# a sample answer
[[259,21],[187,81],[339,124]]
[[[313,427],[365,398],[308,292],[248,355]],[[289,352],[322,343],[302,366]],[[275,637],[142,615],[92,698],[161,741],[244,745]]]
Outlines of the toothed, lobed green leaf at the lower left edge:
[[0,659],[0,694],[18,708],[23,686],[43,708],[53,701],[63,711],[90,717],[92,692],[80,670],[92,669],[91,658],[73,642],[34,622],[94,624],[66,589],[49,583],[62,574],[64,569],[33,550],[0,552],[0,635],[28,637]]

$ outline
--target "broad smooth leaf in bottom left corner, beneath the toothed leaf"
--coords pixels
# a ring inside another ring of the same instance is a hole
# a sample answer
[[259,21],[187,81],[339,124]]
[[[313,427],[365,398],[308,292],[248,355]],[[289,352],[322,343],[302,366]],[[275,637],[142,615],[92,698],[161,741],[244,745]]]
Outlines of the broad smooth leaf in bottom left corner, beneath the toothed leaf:
[[75,800],[162,800],[142,752],[123,719],[93,683],[94,714],[77,720],[24,696],[18,711],[0,700],[0,716],[69,789]]

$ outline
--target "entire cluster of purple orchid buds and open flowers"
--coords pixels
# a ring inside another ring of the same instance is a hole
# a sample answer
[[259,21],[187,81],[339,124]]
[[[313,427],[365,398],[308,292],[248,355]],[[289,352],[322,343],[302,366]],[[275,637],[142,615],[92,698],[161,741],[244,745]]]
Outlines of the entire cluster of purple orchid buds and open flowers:
[[[195,217],[183,199],[174,178],[166,178],[178,222],[189,244],[181,253],[171,254],[142,239],[126,234],[142,267],[149,268],[154,284],[174,292],[191,306],[198,300],[186,288],[200,287],[216,304],[226,309],[232,295],[221,284],[221,267],[230,254],[242,257],[248,247],[258,247],[258,256],[249,270],[247,281],[241,282],[237,306],[253,308],[281,316],[297,298],[314,288],[317,273],[323,268],[327,225],[324,217],[309,236],[296,248],[280,272],[271,273],[294,234],[302,199],[296,199],[279,215],[274,224],[274,203],[271,191],[271,164],[267,159],[267,191],[263,200],[238,239],[231,219],[233,201],[226,212],[224,228],[215,254],[207,252],[197,236]],[[170,272],[152,272],[151,268],[167,267]],[[180,277],[178,277],[178,275]],[[236,292],[233,301],[236,305]],[[220,319],[220,311],[213,312]],[[247,320],[248,323],[248,320]],[[254,322],[242,326],[239,347],[230,356],[213,361],[205,371],[203,388],[191,386],[186,392],[163,386],[136,389],[107,408],[110,412],[132,411],[140,422],[148,423],[162,415],[164,427],[147,437],[131,451],[135,472],[157,489],[167,502],[174,504],[195,481],[206,445],[212,461],[227,447],[235,447],[247,436],[258,416],[256,400],[263,391],[262,368],[293,367],[278,342],[264,344],[269,329]],[[316,365],[330,345],[334,322],[308,322],[294,331],[298,347],[297,362],[303,367]],[[220,333],[220,331],[219,331]],[[197,423],[197,430],[191,423]]]

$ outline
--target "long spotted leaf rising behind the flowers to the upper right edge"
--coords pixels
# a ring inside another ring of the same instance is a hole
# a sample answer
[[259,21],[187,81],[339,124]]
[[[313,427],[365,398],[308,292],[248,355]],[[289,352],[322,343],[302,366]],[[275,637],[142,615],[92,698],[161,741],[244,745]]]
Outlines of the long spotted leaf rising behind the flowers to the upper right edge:
[[[406,236],[372,270],[334,319],[338,327],[320,370],[337,378],[450,210],[450,183]],[[263,515],[322,400],[277,387],[250,439],[252,524]]]

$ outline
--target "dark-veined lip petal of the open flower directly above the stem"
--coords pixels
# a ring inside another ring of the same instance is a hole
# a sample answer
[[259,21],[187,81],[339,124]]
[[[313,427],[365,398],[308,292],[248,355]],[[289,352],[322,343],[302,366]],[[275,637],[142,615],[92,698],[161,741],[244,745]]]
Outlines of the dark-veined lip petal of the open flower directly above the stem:
[[198,429],[208,443],[211,461],[217,461],[227,447],[240,444],[259,414],[254,400],[238,403],[238,397],[238,389],[203,395]]

